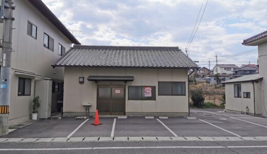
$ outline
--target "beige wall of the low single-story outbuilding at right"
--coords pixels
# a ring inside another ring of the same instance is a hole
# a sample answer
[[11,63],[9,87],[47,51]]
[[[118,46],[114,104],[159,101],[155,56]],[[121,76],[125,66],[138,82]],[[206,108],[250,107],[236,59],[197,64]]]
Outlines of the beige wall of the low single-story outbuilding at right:
[[[234,84],[241,84],[241,98],[234,97]],[[256,114],[261,114],[261,98],[258,87],[260,83],[255,83],[255,108]],[[243,98],[243,92],[250,92],[251,98]],[[246,106],[249,107],[249,113],[254,114],[254,91],[252,82],[228,83],[225,84],[225,109],[246,113]]]

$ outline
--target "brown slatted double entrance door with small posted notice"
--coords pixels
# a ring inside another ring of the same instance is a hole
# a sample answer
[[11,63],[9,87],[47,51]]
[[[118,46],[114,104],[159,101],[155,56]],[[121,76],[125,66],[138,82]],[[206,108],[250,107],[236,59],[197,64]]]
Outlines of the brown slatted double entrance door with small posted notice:
[[125,85],[98,85],[97,109],[102,115],[124,115]]

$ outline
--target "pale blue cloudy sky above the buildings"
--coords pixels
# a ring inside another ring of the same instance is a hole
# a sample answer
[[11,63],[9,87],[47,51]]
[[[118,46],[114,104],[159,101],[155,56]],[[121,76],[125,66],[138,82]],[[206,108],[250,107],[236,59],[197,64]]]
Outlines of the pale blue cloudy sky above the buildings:
[[[185,51],[202,0],[43,0],[83,45],[179,46]],[[206,0],[204,0],[204,3]],[[266,0],[209,0],[189,57],[200,66],[257,61],[242,40],[267,30]]]

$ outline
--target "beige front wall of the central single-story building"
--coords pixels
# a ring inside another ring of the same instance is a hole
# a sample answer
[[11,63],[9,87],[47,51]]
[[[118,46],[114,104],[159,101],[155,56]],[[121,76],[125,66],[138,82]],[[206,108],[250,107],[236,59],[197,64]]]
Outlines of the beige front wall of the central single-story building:
[[[66,67],[64,78],[65,115],[84,112],[84,103],[92,103],[91,112],[97,107],[97,84],[125,84],[125,82],[93,82],[87,81],[89,75],[127,75],[134,76],[133,82],[126,83],[126,114],[188,113],[188,87],[186,69],[138,69],[138,68],[81,68]],[[85,78],[79,83],[79,76]],[[159,96],[158,81],[186,82],[185,96]],[[156,101],[128,100],[128,86],[156,86]],[[80,113],[83,115],[83,113]]]

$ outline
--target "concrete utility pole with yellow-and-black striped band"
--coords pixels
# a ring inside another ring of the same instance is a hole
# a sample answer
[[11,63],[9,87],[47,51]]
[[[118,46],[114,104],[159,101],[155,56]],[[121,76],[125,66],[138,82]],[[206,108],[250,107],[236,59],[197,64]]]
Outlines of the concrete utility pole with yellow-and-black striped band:
[[1,20],[3,24],[2,67],[0,75],[0,136],[8,134],[8,114],[10,105],[11,51],[13,0],[2,0]]

